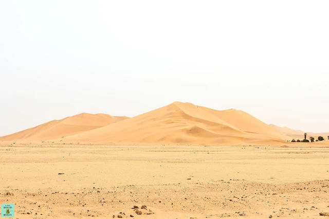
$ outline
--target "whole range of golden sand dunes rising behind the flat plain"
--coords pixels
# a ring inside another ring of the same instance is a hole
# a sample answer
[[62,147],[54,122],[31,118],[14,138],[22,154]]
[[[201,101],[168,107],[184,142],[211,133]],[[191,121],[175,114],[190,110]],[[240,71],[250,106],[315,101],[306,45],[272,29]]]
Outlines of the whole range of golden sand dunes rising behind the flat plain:
[[[325,139],[329,133],[308,133]],[[70,143],[258,144],[283,145],[303,139],[304,132],[266,124],[236,109],[217,111],[192,103],[173,102],[128,118],[79,114],[0,137],[1,141],[63,141]]]

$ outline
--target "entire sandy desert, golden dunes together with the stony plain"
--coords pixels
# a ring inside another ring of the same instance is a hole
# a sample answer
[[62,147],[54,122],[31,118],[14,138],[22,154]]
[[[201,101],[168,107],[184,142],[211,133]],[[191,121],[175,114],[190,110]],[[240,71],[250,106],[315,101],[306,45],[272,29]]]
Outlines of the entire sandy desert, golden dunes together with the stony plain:
[[328,141],[292,136],[190,103],[79,114],[0,138],[0,203],[14,218],[323,218]]

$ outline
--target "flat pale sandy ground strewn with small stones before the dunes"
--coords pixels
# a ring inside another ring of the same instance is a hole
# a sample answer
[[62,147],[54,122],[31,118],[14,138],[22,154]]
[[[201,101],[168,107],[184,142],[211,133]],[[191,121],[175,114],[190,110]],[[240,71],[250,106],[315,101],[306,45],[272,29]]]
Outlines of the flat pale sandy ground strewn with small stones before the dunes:
[[15,218],[325,218],[319,213],[329,212],[328,146],[2,143],[0,167],[0,203],[14,203]]

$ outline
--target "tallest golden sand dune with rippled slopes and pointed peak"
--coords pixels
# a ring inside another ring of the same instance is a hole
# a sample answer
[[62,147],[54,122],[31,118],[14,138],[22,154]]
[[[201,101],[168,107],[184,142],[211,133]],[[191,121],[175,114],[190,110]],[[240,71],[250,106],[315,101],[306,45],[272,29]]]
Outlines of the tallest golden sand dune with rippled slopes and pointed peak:
[[216,111],[174,102],[63,141],[90,143],[277,144],[287,138],[274,127],[235,109]]

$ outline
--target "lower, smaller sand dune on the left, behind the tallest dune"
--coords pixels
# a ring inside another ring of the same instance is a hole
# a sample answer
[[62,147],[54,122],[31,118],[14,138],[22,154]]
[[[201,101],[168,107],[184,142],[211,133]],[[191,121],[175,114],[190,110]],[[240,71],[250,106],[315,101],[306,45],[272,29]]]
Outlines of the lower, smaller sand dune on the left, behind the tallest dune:
[[2,141],[12,140],[47,140],[97,129],[99,127],[122,121],[128,117],[107,114],[82,113],[61,120],[53,120],[31,129],[0,137]]

